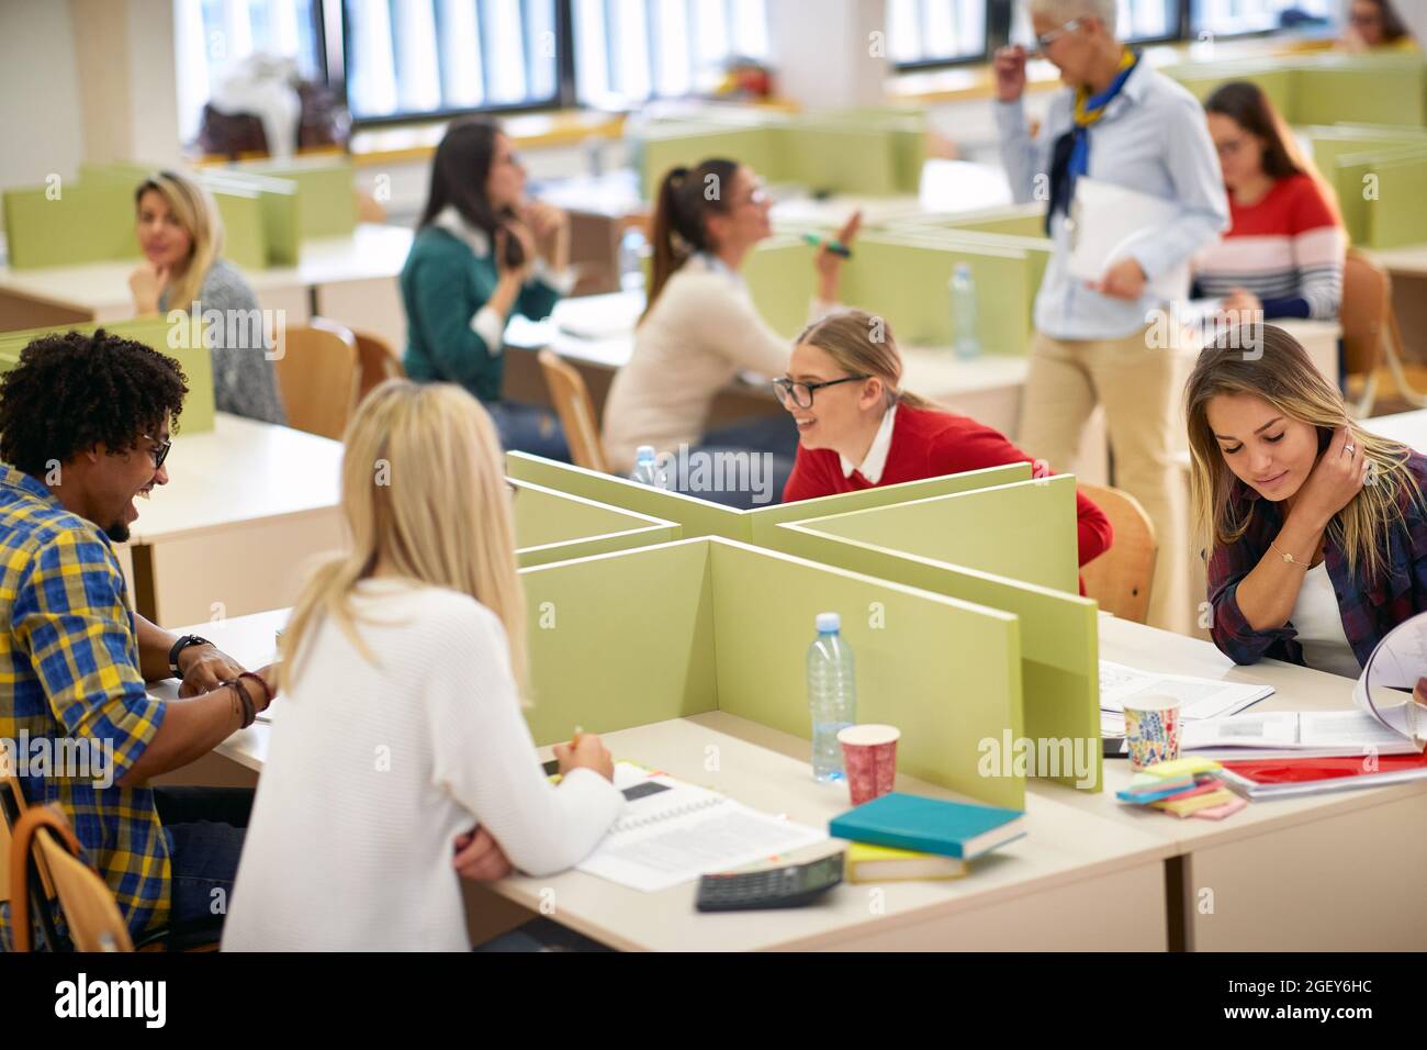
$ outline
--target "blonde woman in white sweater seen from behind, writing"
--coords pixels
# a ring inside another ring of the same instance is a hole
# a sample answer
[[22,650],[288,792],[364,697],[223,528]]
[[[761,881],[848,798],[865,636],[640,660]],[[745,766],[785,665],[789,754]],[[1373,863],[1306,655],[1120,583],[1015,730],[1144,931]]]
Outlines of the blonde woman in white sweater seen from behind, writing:
[[485,410],[391,380],[345,446],[352,544],[283,633],[225,950],[465,950],[462,876],[567,869],[624,804],[598,737],[555,747],[555,787],[521,714],[525,603]]

